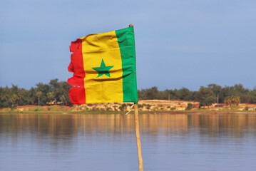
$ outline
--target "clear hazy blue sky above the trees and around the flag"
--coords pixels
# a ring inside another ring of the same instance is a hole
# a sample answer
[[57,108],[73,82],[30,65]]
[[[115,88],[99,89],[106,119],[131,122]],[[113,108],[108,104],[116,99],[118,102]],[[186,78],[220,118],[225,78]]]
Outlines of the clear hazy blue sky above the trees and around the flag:
[[256,1],[0,0],[0,86],[72,76],[69,45],[134,25],[138,88],[255,88]]

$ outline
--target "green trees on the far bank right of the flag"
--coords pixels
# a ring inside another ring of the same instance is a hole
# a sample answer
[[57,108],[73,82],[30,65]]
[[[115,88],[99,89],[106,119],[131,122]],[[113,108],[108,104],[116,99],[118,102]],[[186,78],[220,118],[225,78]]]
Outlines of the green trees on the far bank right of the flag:
[[206,87],[200,86],[198,91],[190,91],[188,88],[160,91],[157,87],[153,87],[138,90],[138,98],[139,100],[192,100],[200,102],[200,106],[208,106],[213,103],[237,105],[239,103],[256,103],[256,88],[250,90],[244,88],[242,84],[225,87],[209,84]]

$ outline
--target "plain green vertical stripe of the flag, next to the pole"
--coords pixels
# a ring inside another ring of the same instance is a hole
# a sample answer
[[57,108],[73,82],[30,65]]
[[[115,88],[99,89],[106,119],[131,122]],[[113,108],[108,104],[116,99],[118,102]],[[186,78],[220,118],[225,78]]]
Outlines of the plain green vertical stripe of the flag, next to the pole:
[[122,58],[123,102],[138,102],[133,27],[116,31]]

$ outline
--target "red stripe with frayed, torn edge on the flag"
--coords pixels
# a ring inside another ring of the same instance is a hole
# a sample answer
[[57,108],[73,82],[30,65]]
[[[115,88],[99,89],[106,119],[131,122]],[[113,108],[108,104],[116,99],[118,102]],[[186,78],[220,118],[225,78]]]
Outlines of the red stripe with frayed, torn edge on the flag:
[[69,98],[73,104],[86,103],[86,91],[84,89],[86,74],[83,69],[82,42],[80,38],[71,42],[70,51],[72,54],[68,71],[73,72],[73,77],[68,78],[68,83],[76,87],[72,87],[69,90]]

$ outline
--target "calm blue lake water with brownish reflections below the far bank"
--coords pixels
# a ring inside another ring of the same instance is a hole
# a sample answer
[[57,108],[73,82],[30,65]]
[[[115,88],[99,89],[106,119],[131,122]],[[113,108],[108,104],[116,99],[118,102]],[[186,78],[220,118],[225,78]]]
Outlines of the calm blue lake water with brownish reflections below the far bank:
[[[144,170],[256,170],[255,114],[140,114]],[[138,170],[134,115],[0,114],[0,170]]]

